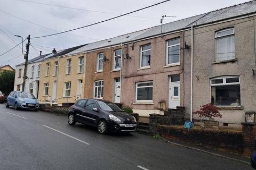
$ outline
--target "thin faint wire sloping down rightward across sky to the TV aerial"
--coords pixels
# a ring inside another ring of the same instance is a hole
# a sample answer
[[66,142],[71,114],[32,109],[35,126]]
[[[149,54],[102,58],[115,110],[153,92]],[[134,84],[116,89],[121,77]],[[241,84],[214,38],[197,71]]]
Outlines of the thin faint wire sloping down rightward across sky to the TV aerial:
[[[28,3],[34,3],[34,4],[41,4],[41,5],[48,5],[48,6],[55,6],[55,7],[62,7],[62,8],[68,8],[68,9],[71,9],[71,10],[98,12],[98,13],[105,13],[105,14],[112,14],[112,15],[121,15],[121,14],[111,13],[111,12],[103,12],[103,11],[95,11],[95,10],[86,10],[86,9],[82,9],[82,8],[75,8],[75,7],[69,7],[69,6],[54,5],[54,4],[46,4],[46,3],[34,2],[34,1],[27,1],[27,0],[18,0],[18,1],[23,1],[23,2],[28,2]],[[151,18],[151,17],[146,17],[146,16],[136,16],[136,15],[127,15],[127,16],[159,20],[159,18]]]

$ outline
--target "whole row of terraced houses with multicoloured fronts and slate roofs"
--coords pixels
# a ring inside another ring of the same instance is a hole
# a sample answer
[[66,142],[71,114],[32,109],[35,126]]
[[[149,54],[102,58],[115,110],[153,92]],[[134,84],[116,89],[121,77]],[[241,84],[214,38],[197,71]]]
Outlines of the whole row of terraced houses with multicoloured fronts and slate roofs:
[[[221,109],[220,125],[241,128],[255,111],[256,1],[222,8],[29,60],[25,90],[39,102],[100,98],[140,116],[183,106]],[[14,90],[22,89],[24,63]],[[193,115],[193,118],[196,118]]]

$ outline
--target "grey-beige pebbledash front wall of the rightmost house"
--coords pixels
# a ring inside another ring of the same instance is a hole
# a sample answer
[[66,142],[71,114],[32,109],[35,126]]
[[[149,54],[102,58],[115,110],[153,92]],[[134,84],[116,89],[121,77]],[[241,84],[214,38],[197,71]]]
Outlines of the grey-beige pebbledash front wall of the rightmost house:
[[[235,59],[217,62],[215,33],[229,28],[234,28]],[[193,112],[197,111],[199,106],[211,103],[211,79],[228,76],[239,77],[241,106],[218,106],[222,118],[214,119],[219,121],[220,125],[225,123],[231,128],[241,129],[241,123],[245,122],[245,112],[255,111],[256,76],[252,71],[255,71],[254,29],[254,16],[194,27]],[[191,45],[190,35],[191,30],[185,32],[185,41],[189,45]],[[188,50],[189,55],[190,53],[191,50]],[[187,117],[190,113],[191,58],[189,55],[184,70]],[[199,120],[194,114],[193,118]]]

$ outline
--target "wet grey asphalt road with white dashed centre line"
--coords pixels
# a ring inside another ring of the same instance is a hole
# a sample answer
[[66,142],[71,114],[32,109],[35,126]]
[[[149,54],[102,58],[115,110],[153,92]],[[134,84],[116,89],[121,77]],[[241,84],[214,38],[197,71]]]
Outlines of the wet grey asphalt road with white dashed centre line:
[[0,104],[0,169],[252,169],[139,133],[102,135],[67,117]]

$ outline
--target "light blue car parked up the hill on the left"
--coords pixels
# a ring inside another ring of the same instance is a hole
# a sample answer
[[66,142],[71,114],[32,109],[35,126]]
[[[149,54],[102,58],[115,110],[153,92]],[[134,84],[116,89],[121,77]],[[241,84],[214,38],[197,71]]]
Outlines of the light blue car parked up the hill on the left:
[[14,106],[14,109],[29,108],[38,110],[39,103],[33,94],[24,91],[12,91],[7,97],[5,107]]

